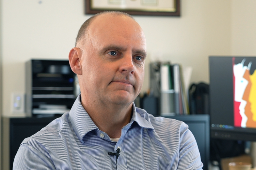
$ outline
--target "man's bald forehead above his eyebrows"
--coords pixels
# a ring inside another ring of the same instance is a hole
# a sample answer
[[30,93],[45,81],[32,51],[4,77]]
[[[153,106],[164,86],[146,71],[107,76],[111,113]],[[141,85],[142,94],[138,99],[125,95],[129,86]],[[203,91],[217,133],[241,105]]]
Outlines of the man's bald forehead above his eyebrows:
[[141,27],[125,15],[97,16],[88,27],[87,39],[98,47],[118,44],[146,50],[146,40]]

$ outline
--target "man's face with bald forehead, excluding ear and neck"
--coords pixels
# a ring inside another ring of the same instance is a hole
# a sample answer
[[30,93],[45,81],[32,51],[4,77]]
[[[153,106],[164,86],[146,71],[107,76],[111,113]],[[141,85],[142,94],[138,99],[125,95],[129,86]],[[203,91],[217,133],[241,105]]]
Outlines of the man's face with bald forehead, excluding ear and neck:
[[84,98],[130,105],[141,90],[146,58],[146,40],[136,21],[127,16],[98,16],[81,46],[79,83]]

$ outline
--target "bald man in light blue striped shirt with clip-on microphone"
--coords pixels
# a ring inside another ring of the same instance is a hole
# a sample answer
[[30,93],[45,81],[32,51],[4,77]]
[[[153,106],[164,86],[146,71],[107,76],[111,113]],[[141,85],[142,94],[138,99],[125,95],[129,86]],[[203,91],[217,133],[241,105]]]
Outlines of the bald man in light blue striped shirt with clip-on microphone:
[[187,125],[135,107],[145,59],[144,33],[130,15],[87,20],[69,54],[81,95],[69,113],[24,139],[13,169],[201,169]]

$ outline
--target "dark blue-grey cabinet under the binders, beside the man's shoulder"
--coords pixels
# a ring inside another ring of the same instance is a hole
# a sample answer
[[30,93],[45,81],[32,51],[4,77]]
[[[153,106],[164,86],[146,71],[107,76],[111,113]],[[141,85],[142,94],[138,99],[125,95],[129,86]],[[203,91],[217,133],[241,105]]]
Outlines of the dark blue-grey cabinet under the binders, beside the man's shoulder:
[[203,163],[203,170],[208,170],[210,160],[210,116],[208,114],[193,114],[182,116],[164,116],[183,121],[194,135]]

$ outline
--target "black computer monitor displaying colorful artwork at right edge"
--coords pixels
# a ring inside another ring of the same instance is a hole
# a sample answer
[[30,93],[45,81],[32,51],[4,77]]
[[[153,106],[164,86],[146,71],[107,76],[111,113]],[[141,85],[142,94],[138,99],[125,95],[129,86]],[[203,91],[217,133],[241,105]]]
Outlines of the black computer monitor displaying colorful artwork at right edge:
[[209,57],[211,137],[256,141],[256,57]]

